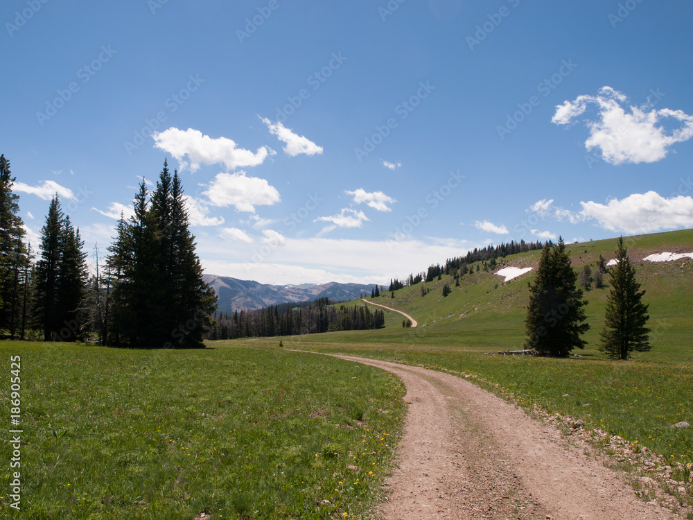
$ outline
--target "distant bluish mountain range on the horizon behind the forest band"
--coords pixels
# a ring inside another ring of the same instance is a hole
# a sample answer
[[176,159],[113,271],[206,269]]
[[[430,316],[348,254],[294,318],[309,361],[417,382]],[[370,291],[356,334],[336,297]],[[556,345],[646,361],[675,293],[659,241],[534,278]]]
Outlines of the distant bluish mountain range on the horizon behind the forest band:
[[262,309],[287,302],[312,302],[318,298],[349,301],[362,293],[371,294],[374,286],[361,284],[267,285],[252,280],[239,280],[227,276],[203,275],[202,278],[216,291],[219,312],[232,313],[241,309]]

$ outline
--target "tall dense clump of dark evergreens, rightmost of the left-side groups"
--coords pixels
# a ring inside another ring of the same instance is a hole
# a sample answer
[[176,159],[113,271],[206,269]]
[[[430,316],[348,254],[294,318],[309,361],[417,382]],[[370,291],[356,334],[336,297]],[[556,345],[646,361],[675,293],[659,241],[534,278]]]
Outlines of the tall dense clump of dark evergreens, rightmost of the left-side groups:
[[121,218],[107,261],[107,343],[130,347],[200,347],[216,294],[202,281],[178,173],[164,162],[148,201],[142,181],[134,216]]

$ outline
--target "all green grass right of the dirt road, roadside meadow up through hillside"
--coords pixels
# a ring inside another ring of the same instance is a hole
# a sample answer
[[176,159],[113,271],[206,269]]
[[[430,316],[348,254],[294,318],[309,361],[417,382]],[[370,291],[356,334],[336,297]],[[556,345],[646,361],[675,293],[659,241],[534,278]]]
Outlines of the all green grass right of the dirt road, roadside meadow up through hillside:
[[[569,359],[531,356],[491,356],[486,352],[520,349],[525,340],[525,305],[530,272],[504,283],[483,268],[465,275],[459,287],[451,277],[385,293],[378,303],[401,309],[419,320],[416,329],[403,329],[402,316],[388,313],[386,329],[294,336],[284,338],[289,348],[345,352],[454,370],[481,376],[487,388],[495,385],[518,403],[539,404],[552,413],[582,417],[589,428],[603,428],[633,444],[648,447],[678,462],[693,462],[690,429],[672,428],[677,422],[693,424],[693,261],[642,262],[659,252],[693,252],[693,230],[633,236],[624,239],[638,280],[647,293],[651,327],[650,352],[636,353],[631,361],[609,361],[597,349],[604,324],[608,287],[585,293],[591,329],[588,347]],[[594,266],[602,254],[613,257],[615,239],[568,245],[572,263],[581,270]],[[504,266],[533,267],[541,252],[501,259]],[[494,271],[495,271],[494,270]],[[452,294],[442,295],[444,284]],[[355,304],[362,304],[355,302]],[[267,344],[276,340],[268,340]],[[637,441],[637,442],[636,442]]]

